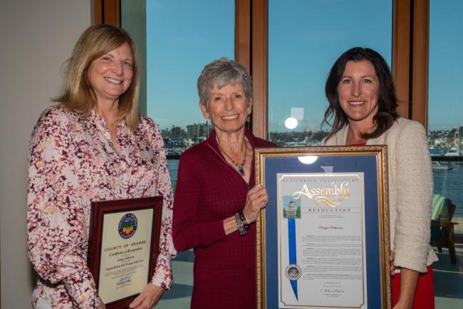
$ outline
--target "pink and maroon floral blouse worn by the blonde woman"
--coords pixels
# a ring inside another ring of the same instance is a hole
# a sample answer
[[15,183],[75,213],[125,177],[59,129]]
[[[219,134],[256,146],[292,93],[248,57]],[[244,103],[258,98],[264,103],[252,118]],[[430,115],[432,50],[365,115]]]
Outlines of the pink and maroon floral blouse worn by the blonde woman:
[[87,266],[91,201],[164,197],[160,254],[151,283],[170,289],[172,188],[162,137],[145,116],[135,133],[118,124],[118,151],[103,118],[59,104],[32,133],[28,162],[28,252],[39,275],[33,308],[96,308],[101,300]]

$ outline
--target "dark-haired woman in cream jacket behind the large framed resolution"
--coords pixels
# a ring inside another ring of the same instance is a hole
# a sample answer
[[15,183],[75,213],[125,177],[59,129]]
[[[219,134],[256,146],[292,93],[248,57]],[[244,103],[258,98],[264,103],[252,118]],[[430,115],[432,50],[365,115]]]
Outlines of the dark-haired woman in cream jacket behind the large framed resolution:
[[325,145],[387,145],[390,250],[396,268],[392,305],[435,308],[431,264],[437,256],[430,247],[432,166],[425,128],[397,115],[389,68],[372,49],[345,51],[333,64],[325,91],[329,106],[323,123],[332,127]]

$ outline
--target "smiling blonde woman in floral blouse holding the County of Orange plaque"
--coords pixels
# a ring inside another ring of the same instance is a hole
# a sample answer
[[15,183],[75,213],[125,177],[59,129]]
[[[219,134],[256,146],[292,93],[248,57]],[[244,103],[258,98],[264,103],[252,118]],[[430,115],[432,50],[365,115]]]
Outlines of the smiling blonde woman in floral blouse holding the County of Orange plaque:
[[90,26],[68,64],[65,91],[43,111],[28,161],[28,251],[38,274],[33,308],[105,308],[88,269],[92,201],[163,196],[155,273],[130,308],[152,308],[172,285],[172,188],[162,136],[137,111],[135,44]]

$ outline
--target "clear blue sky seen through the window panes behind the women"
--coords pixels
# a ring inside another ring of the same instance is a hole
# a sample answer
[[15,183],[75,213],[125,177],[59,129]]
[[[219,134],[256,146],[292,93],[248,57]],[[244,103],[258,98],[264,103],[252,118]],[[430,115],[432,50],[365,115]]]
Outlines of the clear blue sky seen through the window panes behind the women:
[[[430,128],[463,126],[463,1],[431,0]],[[194,5],[193,5],[194,3]],[[318,130],[326,76],[353,46],[392,61],[392,1],[269,0],[269,128]],[[204,123],[197,77],[234,59],[234,0],[147,0],[147,113],[161,128]]]

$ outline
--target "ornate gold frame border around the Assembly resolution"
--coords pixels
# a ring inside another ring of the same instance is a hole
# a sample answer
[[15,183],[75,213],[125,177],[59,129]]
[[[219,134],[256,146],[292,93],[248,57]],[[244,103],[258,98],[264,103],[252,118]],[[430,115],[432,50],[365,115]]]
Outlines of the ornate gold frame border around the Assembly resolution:
[[[376,179],[378,181],[378,243],[380,247],[380,294],[381,309],[392,308],[390,290],[390,233],[389,233],[389,191],[387,178],[387,146],[314,146],[286,148],[256,148],[256,183],[265,185],[264,161],[266,158],[293,158],[298,156],[375,156]],[[257,308],[267,308],[266,304],[266,209],[262,210],[256,221],[256,278]],[[326,309],[331,309],[327,307]]]

